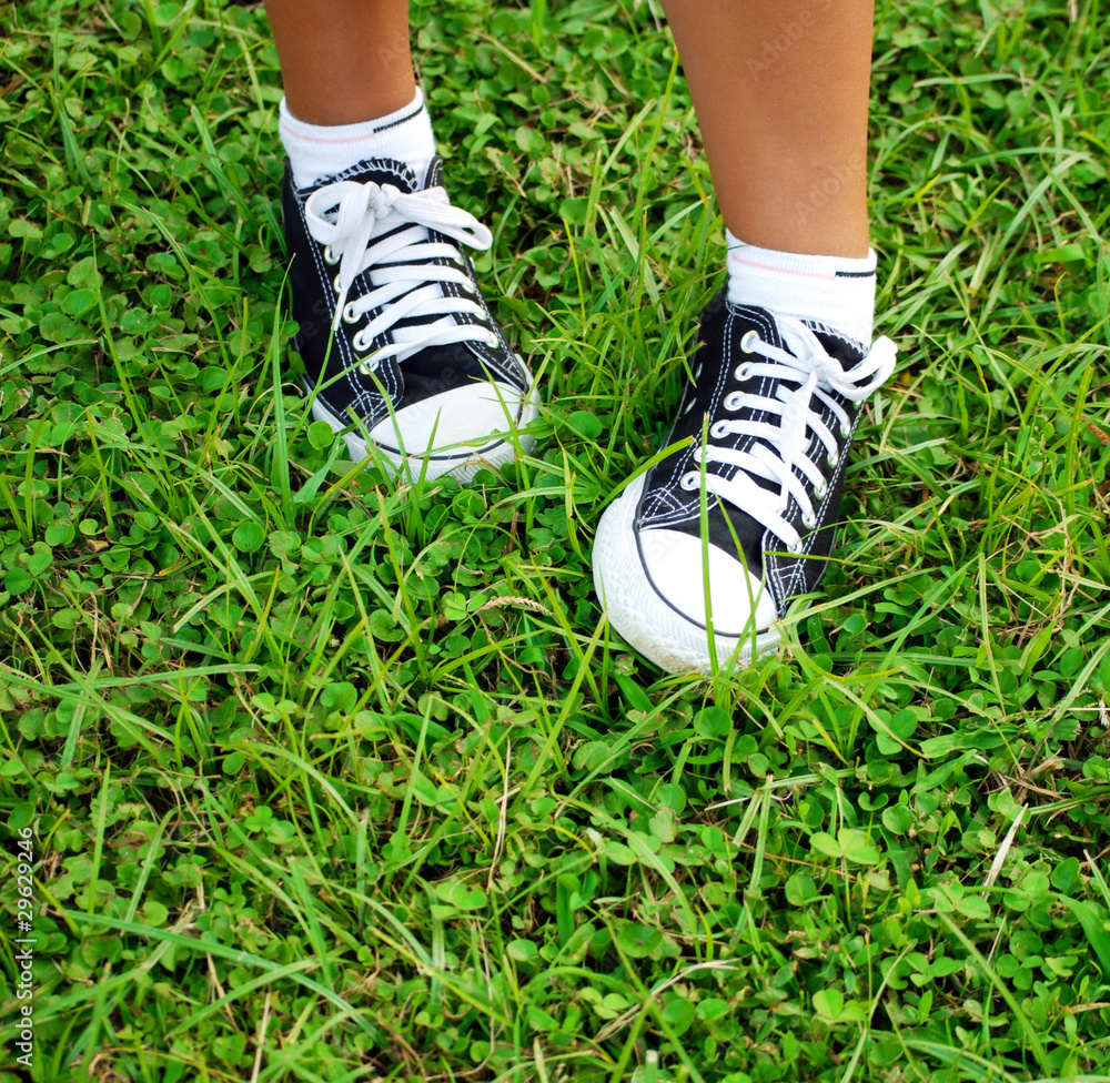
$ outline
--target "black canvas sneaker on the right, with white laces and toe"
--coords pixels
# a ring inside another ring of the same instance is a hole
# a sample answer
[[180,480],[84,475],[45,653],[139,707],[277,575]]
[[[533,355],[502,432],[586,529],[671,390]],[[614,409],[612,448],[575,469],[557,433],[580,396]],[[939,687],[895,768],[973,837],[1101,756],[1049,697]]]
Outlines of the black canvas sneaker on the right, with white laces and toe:
[[710,668],[710,635],[723,668],[774,649],[825,571],[859,412],[895,352],[710,302],[667,437],[689,443],[606,509],[594,544],[597,595],[633,647],[670,672]]

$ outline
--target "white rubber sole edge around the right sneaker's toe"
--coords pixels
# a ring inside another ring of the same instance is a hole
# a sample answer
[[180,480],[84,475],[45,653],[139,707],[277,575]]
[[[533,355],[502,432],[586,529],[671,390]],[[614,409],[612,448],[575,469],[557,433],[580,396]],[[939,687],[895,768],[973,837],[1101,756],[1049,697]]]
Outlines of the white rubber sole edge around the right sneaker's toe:
[[[683,617],[665,601],[644,570],[634,524],[646,475],[606,509],[594,540],[594,588],[608,613],[609,624],[645,658],[670,674],[693,669],[709,672],[706,629]],[[773,652],[781,631],[771,626],[755,636],[714,636],[720,669],[743,668],[753,658]]]

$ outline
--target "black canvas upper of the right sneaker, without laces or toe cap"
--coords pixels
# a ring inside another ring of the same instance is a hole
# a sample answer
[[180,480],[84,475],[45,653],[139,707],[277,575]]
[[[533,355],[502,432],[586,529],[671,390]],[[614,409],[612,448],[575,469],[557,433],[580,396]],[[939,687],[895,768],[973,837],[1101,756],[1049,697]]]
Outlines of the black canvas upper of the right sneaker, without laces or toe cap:
[[[830,327],[809,326],[828,354],[837,358],[845,370],[850,370],[861,360],[862,353],[858,344],[844,338]],[[683,488],[680,482],[686,474],[702,469],[700,458],[696,456],[702,444],[706,415],[708,425],[722,418],[744,417],[755,422],[779,424],[780,418],[766,411],[727,411],[723,405],[725,396],[731,392],[756,394],[767,398],[776,397],[775,385],[780,381],[766,376],[754,376],[743,383],[736,379],[736,368],[744,361],[758,358],[758,346],[750,354],[740,350],[740,341],[749,331],[755,331],[761,341],[773,346],[788,348],[779,334],[775,317],[769,312],[731,304],[725,291],[717,294],[703,313],[690,357],[690,370],[695,378],[693,383],[687,384],[679,404],[678,421],[667,437],[667,444],[683,438],[692,438],[693,444],[675,452],[649,472],[637,509],[637,535],[652,529],[667,529],[702,537],[700,493],[698,489]],[[799,374],[796,383],[787,382],[789,389],[800,386],[803,378]],[[831,393],[831,397],[847,414],[851,432],[847,437],[842,436],[840,423],[833,412],[816,395],[813,397],[813,409],[836,437],[839,463],[836,467],[828,466],[824,445],[813,429],[807,429],[806,454],[823,468],[828,492],[824,500],[819,502],[813,496],[813,486],[809,482],[804,482],[816,510],[817,523],[813,529],[807,529],[803,525],[801,509],[793,497],[784,513],[783,517],[801,535],[800,554],[787,553],[786,544],[780,538],[741,508],[722,500],[712,493],[707,494],[708,540],[728,554],[736,554],[736,542],[733,537],[735,532],[748,569],[757,578],[766,576],[779,613],[785,611],[786,603],[791,597],[808,593],[816,587],[826,570],[828,564],[826,558],[835,540],[847,452],[859,416],[859,406],[836,392]],[[758,437],[744,435],[729,435],[722,439],[709,437],[709,439],[718,447],[737,451],[749,449],[757,442],[767,443]],[[724,478],[740,473],[738,466],[714,462],[708,463],[705,469],[708,474]],[[777,486],[771,482],[755,475],[751,477],[764,488],[777,490]]]

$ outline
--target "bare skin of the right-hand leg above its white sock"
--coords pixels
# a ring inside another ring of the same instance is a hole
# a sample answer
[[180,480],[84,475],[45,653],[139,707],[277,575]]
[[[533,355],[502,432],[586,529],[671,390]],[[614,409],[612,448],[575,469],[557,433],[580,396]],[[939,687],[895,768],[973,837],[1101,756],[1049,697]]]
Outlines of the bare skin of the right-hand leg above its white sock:
[[664,0],[725,224],[867,255],[872,0]]

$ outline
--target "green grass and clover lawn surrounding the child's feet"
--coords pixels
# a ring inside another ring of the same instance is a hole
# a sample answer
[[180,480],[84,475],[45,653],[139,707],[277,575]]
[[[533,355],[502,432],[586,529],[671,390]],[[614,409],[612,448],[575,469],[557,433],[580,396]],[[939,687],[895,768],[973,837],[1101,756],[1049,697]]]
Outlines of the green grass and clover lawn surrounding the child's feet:
[[1103,4],[880,6],[899,368],[821,595],[709,679],[630,654],[589,574],[722,279],[652,3],[414,3],[547,404],[467,489],[306,414],[261,11],[0,10],[31,1079],[1110,1079]]

